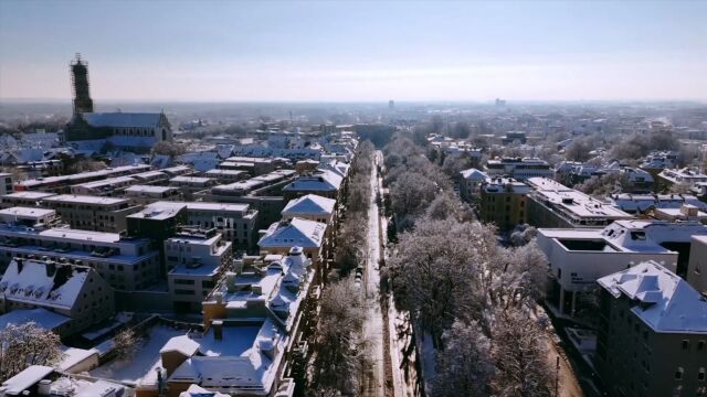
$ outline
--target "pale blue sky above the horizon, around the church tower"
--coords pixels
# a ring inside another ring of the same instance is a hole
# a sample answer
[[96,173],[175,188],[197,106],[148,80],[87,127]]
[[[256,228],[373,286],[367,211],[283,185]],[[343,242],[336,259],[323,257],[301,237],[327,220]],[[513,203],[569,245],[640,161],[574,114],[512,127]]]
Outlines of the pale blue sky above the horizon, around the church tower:
[[706,99],[707,1],[0,0],[0,98]]

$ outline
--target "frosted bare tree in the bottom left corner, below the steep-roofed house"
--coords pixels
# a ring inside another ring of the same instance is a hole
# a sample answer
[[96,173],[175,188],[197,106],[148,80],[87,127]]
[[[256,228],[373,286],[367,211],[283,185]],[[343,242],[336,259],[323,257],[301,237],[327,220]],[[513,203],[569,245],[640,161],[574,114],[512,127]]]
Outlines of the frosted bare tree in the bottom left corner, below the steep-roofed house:
[[61,357],[59,335],[34,322],[0,330],[0,379],[9,379],[30,365],[53,365]]

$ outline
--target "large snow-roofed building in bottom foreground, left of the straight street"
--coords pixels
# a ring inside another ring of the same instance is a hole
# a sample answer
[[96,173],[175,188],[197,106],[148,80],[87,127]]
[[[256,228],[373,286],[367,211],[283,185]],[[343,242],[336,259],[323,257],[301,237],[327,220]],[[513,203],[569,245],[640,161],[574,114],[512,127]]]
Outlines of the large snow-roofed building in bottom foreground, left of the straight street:
[[205,331],[175,336],[160,350],[168,396],[191,385],[230,396],[292,396],[286,356],[300,342],[313,276],[298,247],[244,258],[204,300]]

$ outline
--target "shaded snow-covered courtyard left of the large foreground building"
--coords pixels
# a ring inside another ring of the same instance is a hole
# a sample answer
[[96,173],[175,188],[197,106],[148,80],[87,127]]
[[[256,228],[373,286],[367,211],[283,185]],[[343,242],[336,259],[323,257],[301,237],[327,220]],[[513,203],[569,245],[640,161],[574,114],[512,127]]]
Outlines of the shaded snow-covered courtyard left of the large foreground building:
[[91,376],[104,379],[133,383],[136,385],[156,385],[157,368],[162,368],[159,350],[172,336],[183,335],[183,330],[165,325],[156,325],[143,336],[143,342],[135,355],[126,361],[114,360],[91,371]]

